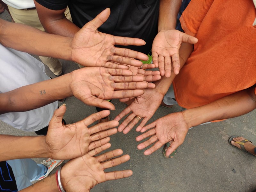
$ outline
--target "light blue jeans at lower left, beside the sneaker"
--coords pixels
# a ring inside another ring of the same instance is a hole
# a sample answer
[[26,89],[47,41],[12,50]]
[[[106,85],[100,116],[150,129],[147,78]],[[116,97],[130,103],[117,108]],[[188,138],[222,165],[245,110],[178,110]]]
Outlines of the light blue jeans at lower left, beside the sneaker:
[[32,181],[42,177],[47,168],[42,164],[37,164],[32,159],[13,159],[7,163],[12,167],[18,191],[32,185]]

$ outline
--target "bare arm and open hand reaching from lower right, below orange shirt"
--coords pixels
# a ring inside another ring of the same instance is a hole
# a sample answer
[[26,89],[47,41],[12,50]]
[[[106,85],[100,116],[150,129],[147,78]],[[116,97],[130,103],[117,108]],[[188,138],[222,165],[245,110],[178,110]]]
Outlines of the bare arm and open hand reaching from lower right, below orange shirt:
[[255,85],[207,105],[172,113],[157,119],[142,128],[141,132],[153,129],[136,138],[137,141],[141,141],[146,137],[150,137],[147,141],[140,143],[138,149],[143,149],[156,142],[144,152],[145,155],[150,155],[165,143],[171,141],[171,145],[166,151],[166,156],[169,156],[183,143],[190,127],[213,120],[241,116],[255,109],[256,95],[254,89]]

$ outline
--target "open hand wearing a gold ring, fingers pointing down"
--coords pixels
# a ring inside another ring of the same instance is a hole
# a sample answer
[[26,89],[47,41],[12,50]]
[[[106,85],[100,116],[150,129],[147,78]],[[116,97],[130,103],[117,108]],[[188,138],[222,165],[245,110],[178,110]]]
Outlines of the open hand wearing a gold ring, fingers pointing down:
[[130,115],[127,116],[119,125],[118,131],[123,131],[124,134],[128,133],[134,125],[140,121],[140,118],[143,118],[140,125],[136,128],[136,131],[140,131],[148,120],[155,114],[163,98],[164,95],[156,89],[146,89],[143,95],[134,98],[132,104],[116,116],[115,120],[119,121],[130,113]]

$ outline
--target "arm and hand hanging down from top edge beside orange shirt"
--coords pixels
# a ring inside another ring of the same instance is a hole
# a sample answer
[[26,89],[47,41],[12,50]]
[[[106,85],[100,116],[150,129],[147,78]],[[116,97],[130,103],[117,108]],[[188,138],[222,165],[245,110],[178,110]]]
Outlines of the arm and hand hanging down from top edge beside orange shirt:
[[197,43],[197,38],[175,30],[181,0],[161,0],[158,19],[158,34],[152,45],[152,59],[161,76],[170,77],[172,70],[179,74],[181,44]]

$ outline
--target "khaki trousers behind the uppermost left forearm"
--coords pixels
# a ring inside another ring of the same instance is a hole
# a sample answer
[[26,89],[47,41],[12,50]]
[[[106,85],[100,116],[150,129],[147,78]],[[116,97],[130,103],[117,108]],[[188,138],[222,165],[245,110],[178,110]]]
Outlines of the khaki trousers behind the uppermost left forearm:
[[[15,23],[22,23],[45,31],[38,18],[36,9],[16,9],[9,5],[8,8]],[[72,21],[68,8],[65,11],[65,15],[68,20]],[[43,56],[39,56],[39,58],[50,68],[54,75],[60,75],[62,73],[62,65],[58,59]]]

